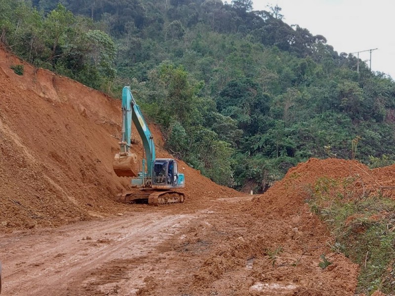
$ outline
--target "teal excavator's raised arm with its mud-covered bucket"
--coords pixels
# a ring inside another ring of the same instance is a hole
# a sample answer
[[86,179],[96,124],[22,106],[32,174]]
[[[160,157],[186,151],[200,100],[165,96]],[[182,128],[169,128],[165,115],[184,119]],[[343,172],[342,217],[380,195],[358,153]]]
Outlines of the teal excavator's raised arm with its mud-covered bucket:
[[142,177],[152,176],[152,168],[155,160],[155,145],[152,133],[145,121],[139,106],[133,98],[129,86],[122,89],[122,139],[119,142],[120,152],[115,155],[113,169],[119,177],[136,177],[138,175],[137,156],[130,151],[132,122],[141,138],[144,147],[146,162],[143,157]]

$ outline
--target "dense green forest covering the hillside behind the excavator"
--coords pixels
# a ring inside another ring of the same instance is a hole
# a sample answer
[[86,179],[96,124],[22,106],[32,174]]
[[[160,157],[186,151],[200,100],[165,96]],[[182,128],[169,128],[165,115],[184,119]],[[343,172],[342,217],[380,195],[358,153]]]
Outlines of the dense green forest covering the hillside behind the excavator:
[[0,42],[120,97],[131,85],[168,150],[262,192],[310,157],[393,163],[395,84],[251,0],[0,0]]

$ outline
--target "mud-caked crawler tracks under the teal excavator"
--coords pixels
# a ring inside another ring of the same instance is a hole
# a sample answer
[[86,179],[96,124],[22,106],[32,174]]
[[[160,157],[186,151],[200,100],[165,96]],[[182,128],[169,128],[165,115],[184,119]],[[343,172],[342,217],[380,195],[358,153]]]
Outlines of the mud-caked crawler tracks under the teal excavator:
[[184,202],[184,193],[175,190],[139,190],[118,194],[117,200],[122,203],[147,203],[152,206]]

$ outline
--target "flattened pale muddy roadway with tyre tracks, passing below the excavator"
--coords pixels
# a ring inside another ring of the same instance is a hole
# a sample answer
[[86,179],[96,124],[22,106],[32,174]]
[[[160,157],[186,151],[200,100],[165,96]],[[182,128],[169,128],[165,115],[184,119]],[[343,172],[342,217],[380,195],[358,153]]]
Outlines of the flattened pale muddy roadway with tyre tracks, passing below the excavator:
[[185,245],[191,229],[211,225],[207,218],[222,203],[226,199],[219,199],[214,207],[202,204],[194,213],[184,213],[182,205],[131,205],[141,211],[0,235],[3,293],[141,295],[153,292],[158,281],[182,281],[198,266],[189,266],[182,256],[172,259],[175,249]]

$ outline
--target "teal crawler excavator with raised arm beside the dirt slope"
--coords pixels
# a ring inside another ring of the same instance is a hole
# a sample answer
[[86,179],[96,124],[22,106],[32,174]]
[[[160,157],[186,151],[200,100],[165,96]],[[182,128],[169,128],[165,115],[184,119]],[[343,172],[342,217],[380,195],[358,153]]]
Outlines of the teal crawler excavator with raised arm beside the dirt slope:
[[[143,144],[141,163],[131,151],[132,123]],[[122,89],[122,138],[119,141],[119,153],[114,157],[113,169],[118,177],[131,177],[131,186],[139,188],[119,194],[118,200],[121,202],[148,200],[148,204],[154,206],[184,202],[184,193],[175,190],[185,187],[184,174],[178,172],[175,159],[155,158],[154,137],[129,86]]]

